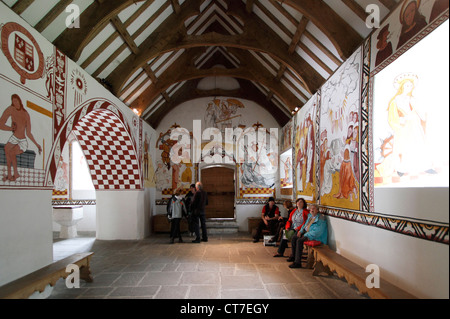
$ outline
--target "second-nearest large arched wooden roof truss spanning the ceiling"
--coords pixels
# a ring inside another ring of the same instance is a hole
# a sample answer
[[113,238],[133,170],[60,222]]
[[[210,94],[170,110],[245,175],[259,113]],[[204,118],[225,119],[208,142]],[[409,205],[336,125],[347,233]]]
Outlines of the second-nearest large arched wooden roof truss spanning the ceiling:
[[[289,46],[261,19],[252,14],[249,19],[241,5],[234,5],[234,13],[242,15],[241,20],[246,21],[244,32],[239,35],[223,35],[208,33],[202,35],[186,35],[184,32],[184,18],[193,14],[199,14],[198,4],[201,0],[185,1],[180,15],[169,16],[140,46],[141,53],[126,58],[108,77],[113,91],[118,94],[123,85],[128,81],[137,69],[147,61],[164,52],[187,49],[193,47],[223,46],[236,47],[246,50],[265,52],[278,63],[286,65],[299,78],[308,83],[308,91],[316,91],[324,83],[325,79],[314,68],[298,55],[289,55]],[[229,7],[230,9],[230,7]],[[182,28],[182,30],[181,30]],[[265,34],[264,38],[259,35]]]

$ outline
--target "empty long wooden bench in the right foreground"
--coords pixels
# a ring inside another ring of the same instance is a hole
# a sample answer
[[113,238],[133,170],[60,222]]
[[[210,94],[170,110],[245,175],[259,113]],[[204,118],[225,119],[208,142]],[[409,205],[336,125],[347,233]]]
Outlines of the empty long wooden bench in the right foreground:
[[322,272],[332,276],[336,272],[339,278],[345,278],[349,285],[355,285],[361,293],[367,294],[373,299],[417,299],[417,297],[381,278],[380,288],[368,288],[366,278],[370,273],[366,272],[364,268],[338,255],[326,245],[313,247],[312,249],[315,259],[313,276]]

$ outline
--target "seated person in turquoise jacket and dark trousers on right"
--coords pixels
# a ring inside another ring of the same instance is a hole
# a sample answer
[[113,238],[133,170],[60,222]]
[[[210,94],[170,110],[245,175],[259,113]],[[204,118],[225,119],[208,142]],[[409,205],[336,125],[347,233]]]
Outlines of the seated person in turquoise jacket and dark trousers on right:
[[309,240],[317,240],[322,244],[327,244],[328,227],[325,216],[319,213],[316,204],[310,205],[308,220],[300,231],[292,237],[292,253],[288,261],[293,262],[289,268],[302,268],[303,244]]

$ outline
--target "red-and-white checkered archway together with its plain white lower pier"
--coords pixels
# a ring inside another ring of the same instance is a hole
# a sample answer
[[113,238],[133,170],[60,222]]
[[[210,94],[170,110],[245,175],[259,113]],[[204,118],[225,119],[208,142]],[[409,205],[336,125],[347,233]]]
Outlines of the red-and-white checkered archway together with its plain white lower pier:
[[141,202],[136,200],[142,189],[140,157],[122,113],[106,100],[87,102],[72,113],[54,143],[49,184],[55,179],[61,150],[70,134],[80,145],[95,189],[97,238],[142,237],[148,222]]

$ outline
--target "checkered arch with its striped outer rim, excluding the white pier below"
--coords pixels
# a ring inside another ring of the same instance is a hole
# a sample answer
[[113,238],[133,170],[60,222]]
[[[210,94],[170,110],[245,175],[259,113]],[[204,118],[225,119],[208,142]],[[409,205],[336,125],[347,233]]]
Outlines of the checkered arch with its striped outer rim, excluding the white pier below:
[[52,149],[48,185],[55,179],[71,132],[86,156],[96,190],[141,189],[140,162],[130,128],[113,104],[100,99],[85,103],[64,123]]

